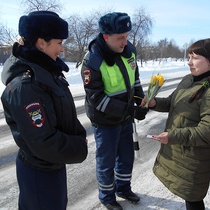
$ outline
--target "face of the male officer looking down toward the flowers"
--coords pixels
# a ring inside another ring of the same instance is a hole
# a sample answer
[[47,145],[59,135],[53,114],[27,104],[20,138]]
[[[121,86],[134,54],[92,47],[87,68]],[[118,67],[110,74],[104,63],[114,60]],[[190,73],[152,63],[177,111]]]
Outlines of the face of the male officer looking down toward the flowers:
[[116,53],[121,53],[127,45],[127,37],[129,32],[123,34],[103,34],[107,45]]

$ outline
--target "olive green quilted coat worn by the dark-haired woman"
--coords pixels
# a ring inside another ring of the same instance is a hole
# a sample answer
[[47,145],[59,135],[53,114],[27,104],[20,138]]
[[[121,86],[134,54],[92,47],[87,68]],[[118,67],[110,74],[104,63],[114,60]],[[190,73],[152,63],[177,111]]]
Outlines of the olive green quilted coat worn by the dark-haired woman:
[[168,98],[156,98],[154,109],[169,112],[169,143],[161,144],[153,171],[172,193],[191,202],[205,197],[210,179],[210,88],[188,102],[204,81],[185,76]]

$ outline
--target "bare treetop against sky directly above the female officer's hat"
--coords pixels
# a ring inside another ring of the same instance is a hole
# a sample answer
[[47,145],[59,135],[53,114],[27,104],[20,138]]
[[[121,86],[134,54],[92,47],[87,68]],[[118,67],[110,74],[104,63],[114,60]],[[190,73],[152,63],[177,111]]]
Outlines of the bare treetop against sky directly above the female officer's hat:
[[40,10],[60,12],[63,8],[59,0],[22,0],[21,5],[25,8],[26,14]]

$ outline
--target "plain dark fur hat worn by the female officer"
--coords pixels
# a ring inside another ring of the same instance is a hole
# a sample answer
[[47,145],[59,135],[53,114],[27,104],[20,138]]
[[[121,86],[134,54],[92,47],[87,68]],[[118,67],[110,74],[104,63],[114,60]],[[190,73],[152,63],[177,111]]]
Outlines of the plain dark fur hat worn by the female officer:
[[55,12],[35,11],[20,17],[19,34],[27,39],[66,39],[68,23]]

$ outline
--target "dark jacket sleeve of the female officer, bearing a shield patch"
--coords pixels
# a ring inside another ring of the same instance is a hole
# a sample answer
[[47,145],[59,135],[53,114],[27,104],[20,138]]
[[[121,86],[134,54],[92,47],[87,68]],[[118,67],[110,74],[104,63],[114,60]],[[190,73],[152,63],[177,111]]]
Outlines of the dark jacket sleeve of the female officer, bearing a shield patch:
[[84,128],[76,119],[76,132],[69,134],[59,129],[53,101],[45,91],[30,83],[12,92],[7,89],[4,94],[5,117],[17,144],[26,144],[34,156],[51,163],[85,160]]

